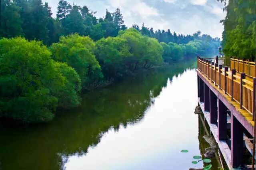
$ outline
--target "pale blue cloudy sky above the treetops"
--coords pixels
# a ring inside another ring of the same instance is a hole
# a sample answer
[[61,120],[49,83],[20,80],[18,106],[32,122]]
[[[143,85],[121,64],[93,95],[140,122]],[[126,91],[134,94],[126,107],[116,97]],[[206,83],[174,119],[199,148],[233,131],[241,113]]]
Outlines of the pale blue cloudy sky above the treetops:
[[[124,24],[132,27],[142,23],[154,30],[168,30],[178,34],[202,34],[222,37],[223,25],[220,20],[226,16],[224,4],[217,0],[67,0],[70,4],[87,6],[97,12],[96,16],[104,17],[106,9],[114,12],[116,8],[124,17]],[[54,17],[58,0],[44,0],[52,7]]]

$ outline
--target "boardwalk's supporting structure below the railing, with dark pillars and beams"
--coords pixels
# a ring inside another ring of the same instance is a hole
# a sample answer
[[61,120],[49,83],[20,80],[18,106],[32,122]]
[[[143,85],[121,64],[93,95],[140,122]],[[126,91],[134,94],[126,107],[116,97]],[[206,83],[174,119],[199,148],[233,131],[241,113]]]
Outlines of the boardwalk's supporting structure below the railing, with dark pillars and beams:
[[[198,101],[212,134],[230,169],[244,165],[244,150],[252,153],[252,114],[225,95],[204,74],[198,75]],[[245,147],[246,146],[246,147]]]

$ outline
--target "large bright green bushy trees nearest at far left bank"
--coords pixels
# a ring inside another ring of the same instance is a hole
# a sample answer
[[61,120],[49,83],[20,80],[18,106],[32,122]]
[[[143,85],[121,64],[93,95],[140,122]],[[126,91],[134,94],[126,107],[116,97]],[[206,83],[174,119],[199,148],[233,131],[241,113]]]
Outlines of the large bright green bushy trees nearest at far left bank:
[[50,121],[56,107],[63,104],[58,101],[60,93],[68,96],[61,99],[66,103],[71,101],[69,95],[77,95],[69,93],[72,83],[79,91],[72,68],[54,62],[41,42],[4,38],[0,47],[0,117],[27,123]]

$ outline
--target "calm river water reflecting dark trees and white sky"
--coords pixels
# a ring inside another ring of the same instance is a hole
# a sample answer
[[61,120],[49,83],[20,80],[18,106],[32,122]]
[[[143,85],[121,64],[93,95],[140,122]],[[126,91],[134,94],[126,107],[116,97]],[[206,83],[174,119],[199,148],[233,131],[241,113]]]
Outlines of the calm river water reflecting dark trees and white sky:
[[[0,124],[2,170],[188,170],[209,147],[187,66],[138,74],[82,96],[40,126]],[[189,150],[182,153],[180,150]],[[212,169],[218,163],[212,159]]]

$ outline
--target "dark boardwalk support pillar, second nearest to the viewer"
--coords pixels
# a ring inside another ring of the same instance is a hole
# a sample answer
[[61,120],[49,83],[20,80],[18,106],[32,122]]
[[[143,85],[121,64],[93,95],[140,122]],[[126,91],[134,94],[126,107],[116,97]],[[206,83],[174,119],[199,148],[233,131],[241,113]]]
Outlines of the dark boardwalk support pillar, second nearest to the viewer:
[[227,107],[218,99],[218,139],[227,138]]

